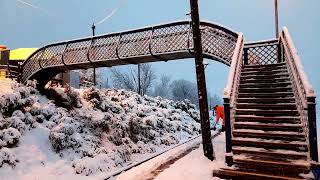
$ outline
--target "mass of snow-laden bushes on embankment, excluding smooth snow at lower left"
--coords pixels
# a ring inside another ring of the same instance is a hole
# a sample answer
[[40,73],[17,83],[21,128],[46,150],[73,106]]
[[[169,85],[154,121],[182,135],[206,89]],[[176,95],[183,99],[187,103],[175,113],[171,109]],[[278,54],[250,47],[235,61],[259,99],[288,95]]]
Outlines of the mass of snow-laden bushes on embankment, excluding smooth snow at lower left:
[[[200,133],[199,112],[190,101],[94,87],[51,88],[52,101],[33,87],[14,88],[0,97],[0,148],[19,145],[31,128],[47,128],[52,149],[79,174],[111,171],[126,165],[132,154],[154,153]],[[0,164],[14,165],[8,150]]]

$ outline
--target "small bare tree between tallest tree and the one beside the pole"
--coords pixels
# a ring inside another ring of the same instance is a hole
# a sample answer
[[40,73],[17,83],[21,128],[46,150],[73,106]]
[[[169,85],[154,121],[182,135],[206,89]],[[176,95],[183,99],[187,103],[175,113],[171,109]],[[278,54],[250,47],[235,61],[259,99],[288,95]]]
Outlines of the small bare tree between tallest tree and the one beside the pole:
[[160,82],[154,87],[153,95],[160,96],[163,98],[170,97],[170,81],[171,77],[167,75],[162,75]]

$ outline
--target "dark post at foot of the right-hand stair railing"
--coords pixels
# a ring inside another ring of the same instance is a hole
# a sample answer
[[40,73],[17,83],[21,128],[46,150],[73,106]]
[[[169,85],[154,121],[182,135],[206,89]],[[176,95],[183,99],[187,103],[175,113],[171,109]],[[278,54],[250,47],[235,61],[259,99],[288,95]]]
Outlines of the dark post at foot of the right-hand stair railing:
[[310,157],[313,161],[318,162],[317,118],[315,97],[308,97],[308,125]]

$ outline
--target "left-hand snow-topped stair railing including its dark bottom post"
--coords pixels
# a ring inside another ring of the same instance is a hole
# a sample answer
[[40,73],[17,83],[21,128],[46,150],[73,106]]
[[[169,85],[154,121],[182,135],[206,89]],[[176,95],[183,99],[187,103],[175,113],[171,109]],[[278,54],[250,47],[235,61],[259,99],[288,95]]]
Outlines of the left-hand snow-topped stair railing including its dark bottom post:
[[232,56],[228,83],[223,93],[226,126],[226,163],[228,165],[232,164],[232,129],[236,114],[238,88],[240,84],[240,75],[243,65],[243,46],[243,35],[239,34],[236,49]]

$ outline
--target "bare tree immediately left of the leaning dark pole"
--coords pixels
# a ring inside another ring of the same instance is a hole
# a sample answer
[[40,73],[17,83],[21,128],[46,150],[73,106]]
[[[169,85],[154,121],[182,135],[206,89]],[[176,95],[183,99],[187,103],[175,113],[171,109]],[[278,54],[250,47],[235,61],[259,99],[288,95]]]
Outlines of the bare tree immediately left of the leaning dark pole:
[[199,107],[197,84],[184,79],[180,79],[173,81],[171,83],[171,87],[173,100],[181,101],[184,99],[189,99],[193,104]]

